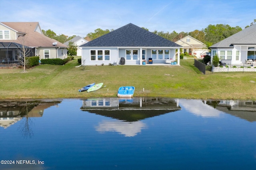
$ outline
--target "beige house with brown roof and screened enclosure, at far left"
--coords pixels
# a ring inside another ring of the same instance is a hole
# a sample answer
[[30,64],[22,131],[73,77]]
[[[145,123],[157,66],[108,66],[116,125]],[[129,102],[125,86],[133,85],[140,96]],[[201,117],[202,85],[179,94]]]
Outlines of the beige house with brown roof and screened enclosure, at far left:
[[[24,41],[23,41],[24,40]],[[40,59],[64,59],[67,45],[46,37],[38,22],[0,22],[0,63],[18,62],[19,48],[30,48],[30,56]]]

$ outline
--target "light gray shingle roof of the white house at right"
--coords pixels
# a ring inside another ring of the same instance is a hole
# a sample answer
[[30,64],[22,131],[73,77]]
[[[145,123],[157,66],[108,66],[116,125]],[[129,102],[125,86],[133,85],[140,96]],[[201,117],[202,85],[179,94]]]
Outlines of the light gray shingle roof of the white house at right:
[[230,48],[232,45],[255,45],[256,44],[256,24],[231,35],[230,37],[210,46],[209,48]]

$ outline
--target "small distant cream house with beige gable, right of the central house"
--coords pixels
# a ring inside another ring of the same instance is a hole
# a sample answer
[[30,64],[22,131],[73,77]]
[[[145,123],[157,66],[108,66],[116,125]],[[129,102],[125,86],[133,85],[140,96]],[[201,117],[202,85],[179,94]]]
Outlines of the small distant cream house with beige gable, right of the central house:
[[189,35],[176,41],[175,43],[183,47],[183,53],[195,55],[197,58],[202,57],[204,53],[208,52],[208,48],[204,43]]

